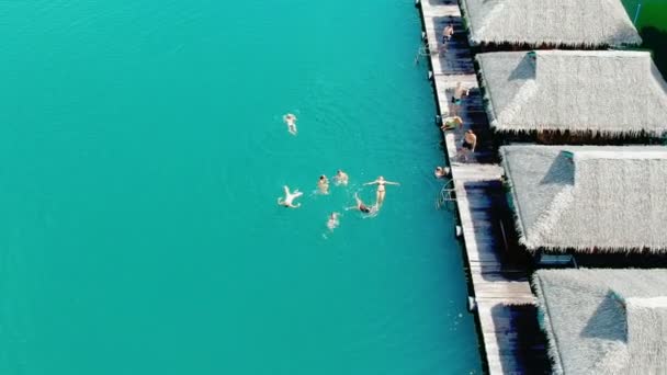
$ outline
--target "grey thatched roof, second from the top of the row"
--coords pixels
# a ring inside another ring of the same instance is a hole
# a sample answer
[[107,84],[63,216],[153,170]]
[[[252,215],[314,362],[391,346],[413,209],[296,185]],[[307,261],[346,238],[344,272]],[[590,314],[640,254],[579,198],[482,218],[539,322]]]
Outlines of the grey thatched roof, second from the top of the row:
[[607,136],[667,133],[667,83],[646,52],[477,55],[491,126]]

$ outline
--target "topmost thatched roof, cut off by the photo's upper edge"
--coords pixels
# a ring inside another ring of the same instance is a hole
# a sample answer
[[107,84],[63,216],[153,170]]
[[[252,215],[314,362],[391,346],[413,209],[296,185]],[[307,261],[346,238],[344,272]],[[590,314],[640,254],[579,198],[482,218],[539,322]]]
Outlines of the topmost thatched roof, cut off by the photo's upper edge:
[[640,45],[620,0],[463,0],[475,45],[567,47]]

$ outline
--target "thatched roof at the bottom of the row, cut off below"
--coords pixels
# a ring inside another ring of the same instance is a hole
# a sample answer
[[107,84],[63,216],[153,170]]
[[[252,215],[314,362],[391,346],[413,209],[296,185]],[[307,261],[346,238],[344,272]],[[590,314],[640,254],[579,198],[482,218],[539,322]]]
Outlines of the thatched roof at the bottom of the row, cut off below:
[[667,270],[540,270],[556,374],[667,374]]

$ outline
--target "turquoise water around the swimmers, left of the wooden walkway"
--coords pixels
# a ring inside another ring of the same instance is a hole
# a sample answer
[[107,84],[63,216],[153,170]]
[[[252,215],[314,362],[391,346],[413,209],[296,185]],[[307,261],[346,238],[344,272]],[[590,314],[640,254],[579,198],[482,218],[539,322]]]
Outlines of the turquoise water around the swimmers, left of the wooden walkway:
[[411,0],[0,3],[0,374],[479,373],[419,33]]

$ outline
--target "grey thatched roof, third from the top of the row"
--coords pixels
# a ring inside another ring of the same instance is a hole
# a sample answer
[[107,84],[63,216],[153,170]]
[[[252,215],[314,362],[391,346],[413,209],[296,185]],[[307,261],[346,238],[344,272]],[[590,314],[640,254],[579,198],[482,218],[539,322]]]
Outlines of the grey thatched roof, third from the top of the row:
[[667,251],[667,148],[505,146],[529,250]]

